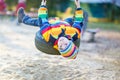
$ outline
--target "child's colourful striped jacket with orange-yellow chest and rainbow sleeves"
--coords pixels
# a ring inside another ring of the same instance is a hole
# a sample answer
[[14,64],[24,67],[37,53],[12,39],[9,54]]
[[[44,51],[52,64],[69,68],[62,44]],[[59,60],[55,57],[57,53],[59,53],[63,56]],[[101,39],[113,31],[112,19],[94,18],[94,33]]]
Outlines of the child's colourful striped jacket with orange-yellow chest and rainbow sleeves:
[[58,49],[57,40],[61,36],[65,36],[73,41],[80,39],[83,22],[83,11],[81,8],[78,8],[75,11],[73,25],[59,19],[52,19],[48,21],[46,6],[40,6],[38,10],[38,18],[41,24],[40,34],[46,42],[52,43],[54,48]]

